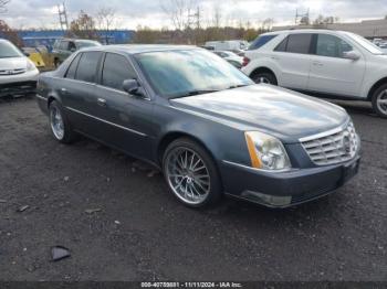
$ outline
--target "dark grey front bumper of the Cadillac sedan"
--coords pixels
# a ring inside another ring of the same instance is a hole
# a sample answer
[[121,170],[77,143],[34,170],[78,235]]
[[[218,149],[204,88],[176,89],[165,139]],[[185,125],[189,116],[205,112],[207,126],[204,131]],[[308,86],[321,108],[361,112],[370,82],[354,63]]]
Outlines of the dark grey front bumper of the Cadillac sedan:
[[272,173],[223,161],[221,175],[228,195],[282,208],[335,192],[358,173],[359,164],[357,156],[341,164]]

